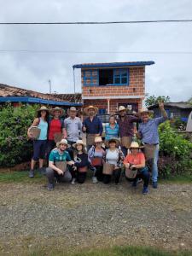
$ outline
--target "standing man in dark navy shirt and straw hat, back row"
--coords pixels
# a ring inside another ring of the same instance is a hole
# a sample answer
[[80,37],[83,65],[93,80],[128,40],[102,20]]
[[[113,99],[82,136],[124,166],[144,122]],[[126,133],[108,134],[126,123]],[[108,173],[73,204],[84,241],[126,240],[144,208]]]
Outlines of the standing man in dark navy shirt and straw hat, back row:
[[84,108],[84,113],[88,118],[84,119],[83,131],[86,132],[87,150],[93,145],[95,137],[102,136],[102,121],[96,116],[98,108],[89,106]]

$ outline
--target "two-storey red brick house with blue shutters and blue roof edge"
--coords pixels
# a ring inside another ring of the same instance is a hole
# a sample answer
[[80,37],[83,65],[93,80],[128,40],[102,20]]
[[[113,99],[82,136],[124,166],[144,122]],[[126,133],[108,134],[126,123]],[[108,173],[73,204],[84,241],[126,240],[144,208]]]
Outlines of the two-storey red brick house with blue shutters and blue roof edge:
[[94,105],[99,114],[115,113],[120,105],[130,110],[142,108],[145,97],[145,66],[154,61],[90,63],[81,68],[84,107]]

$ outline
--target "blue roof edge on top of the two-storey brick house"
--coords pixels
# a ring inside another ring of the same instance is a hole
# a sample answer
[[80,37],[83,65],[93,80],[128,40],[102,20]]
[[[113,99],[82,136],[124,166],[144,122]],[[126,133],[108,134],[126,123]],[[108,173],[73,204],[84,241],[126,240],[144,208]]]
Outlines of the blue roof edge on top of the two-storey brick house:
[[110,63],[85,63],[73,65],[73,68],[82,67],[130,67],[153,65],[154,61],[110,62]]

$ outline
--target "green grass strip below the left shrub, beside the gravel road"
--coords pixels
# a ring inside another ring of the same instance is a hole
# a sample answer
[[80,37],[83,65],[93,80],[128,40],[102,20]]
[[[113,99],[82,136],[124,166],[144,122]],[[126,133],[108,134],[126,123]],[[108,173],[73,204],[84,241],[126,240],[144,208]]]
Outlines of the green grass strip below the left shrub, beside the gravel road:
[[41,183],[44,176],[35,172],[34,178],[28,177],[28,172],[3,172],[0,173],[0,183]]

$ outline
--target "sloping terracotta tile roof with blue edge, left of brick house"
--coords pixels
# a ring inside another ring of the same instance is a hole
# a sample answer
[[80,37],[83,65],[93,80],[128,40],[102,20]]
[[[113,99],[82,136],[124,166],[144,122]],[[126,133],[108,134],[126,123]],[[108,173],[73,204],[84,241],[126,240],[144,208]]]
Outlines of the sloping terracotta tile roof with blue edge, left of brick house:
[[40,93],[34,90],[26,90],[7,84],[0,84],[0,104],[11,102],[17,107],[20,103],[50,105],[51,107],[70,108],[81,107],[81,102],[70,102],[54,95]]

